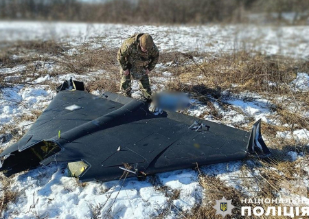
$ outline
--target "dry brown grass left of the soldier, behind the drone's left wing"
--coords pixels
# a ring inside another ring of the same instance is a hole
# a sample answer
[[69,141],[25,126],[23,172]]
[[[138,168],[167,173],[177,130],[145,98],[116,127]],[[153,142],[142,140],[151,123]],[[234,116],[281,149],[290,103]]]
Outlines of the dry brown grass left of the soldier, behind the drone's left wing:
[[[89,91],[93,91],[95,87],[106,91],[118,90],[119,85],[116,84],[119,82],[117,49],[108,49],[104,45],[93,48],[91,43],[74,47],[72,51],[69,49],[71,49],[69,43],[56,41],[16,42],[1,49],[0,67],[23,68],[0,75],[0,89],[14,84],[27,84],[29,78],[33,81],[47,74],[56,77],[66,73],[82,75],[103,70],[106,74],[111,73],[111,76],[94,76]],[[48,63],[52,64],[52,70],[45,67]],[[12,78],[4,80],[7,76],[12,76]],[[56,87],[52,82],[48,85]]]

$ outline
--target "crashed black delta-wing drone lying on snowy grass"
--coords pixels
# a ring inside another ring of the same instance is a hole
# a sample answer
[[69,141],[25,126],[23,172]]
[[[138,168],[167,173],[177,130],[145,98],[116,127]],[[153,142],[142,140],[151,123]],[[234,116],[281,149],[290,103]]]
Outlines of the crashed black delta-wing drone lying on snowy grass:
[[[70,87],[71,90],[67,90]],[[115,93],[102,97],[84,84],[66,81],[20,141],[1,154],[5,176],[39,164],[67,162],[80,181],[111,181],[124,171],[148,174],[269,154],[260,121],[251,132],[163,111],[154,115],[148,104]]]

